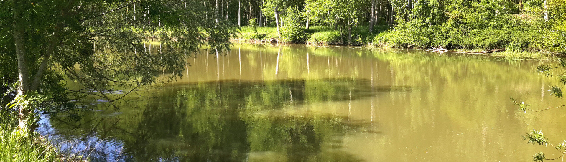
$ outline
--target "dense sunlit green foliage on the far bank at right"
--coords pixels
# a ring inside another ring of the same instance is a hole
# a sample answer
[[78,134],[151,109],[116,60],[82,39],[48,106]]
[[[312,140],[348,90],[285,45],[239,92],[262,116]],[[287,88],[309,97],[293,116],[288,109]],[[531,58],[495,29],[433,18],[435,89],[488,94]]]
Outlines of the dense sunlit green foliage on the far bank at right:
[[[392,1],[397,26],[378,35],[379,46],[448,49],[499,49],[514,52],[565,53],[563,0],[548,1],[550,20],[543,19],[542,0],[526,1],[431,1],[408,8]],[[550,32],[552,31],[552,32]]]

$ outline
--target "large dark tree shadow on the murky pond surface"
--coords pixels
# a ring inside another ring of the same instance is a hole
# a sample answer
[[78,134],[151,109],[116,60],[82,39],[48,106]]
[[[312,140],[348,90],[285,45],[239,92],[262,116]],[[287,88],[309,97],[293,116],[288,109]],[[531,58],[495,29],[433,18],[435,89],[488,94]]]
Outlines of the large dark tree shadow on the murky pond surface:
[[380,131],[309,105],[408,90],[363,79],[176,84],[120,110],[95,105],[80,122],[50,116],[43,129],[74,141],[65,148],[92,151],[91,161],[361,161],[341,149],[344,135]]

